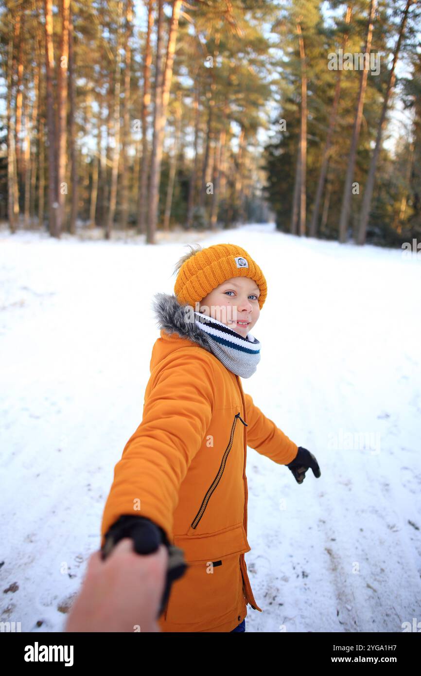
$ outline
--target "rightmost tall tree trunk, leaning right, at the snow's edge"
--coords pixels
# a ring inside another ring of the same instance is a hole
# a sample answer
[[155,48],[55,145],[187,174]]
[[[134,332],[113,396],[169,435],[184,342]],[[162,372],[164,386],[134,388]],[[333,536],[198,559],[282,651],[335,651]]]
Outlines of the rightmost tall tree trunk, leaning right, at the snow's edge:
[[405,24],[406,24],[406,20],[407,20],[408,11],[409,11],[412,3],[413,3],[413,0],[407,0],[405,11],[403,12],[403,17],[402,17],[402,21],[401,21],[401,28],[399,30],[399,38],[397,39],[397,43],[396,43],[396,47],[395,47],[395,53],[393,54],[393,62],[392,62],[392,65],[391,65],[391,70],[389,71],[389,81],[387,82],[387,90],[386,90],[386,94],[385,94],[385,99],[383,101],[382,112],[381,112],[381,115],[380,115],[380,122],[378,123],[378,128],[377,128],[376,146],[374,147],[374,151],[373,151],[373,154],[372,154],[372,158],[371,158],[371,162],[370,162],[370,169],[368,170],[366,190],[364,191],[364,199],[363,199],[362,210],[361,210],[361,215],[360,215],[360,227],[358,228],[358,235],[357,235],[357,241],[356,241],[356,243],[359,244],[359,245],[364,244],[365,241],[366,241],[368,217],[370,216],[371,201],[372,201],[373,189],[374,189],[374,176],[376,174],[377,160],[378,160],[378,155],[380,153],[382,131],[383,131],[383,128],[385,126],[385,121],[386,121],[387,105],[389,103],[390,93],[391,93],[393,87],[395,86],[395,66],[396,66],[396,62],[397,62],[397,57],[399,55],[399,49],[401,49],[401,41],[402,41],[402,37],[403,37],[403,32],[405,31]]

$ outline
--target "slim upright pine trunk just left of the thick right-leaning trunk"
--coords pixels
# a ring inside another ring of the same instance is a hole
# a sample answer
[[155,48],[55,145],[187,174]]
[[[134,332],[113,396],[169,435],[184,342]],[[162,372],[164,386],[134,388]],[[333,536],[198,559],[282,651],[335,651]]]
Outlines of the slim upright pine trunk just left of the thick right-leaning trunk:
[[149,0],[147,35],[145,45],[145,64],[143,66],[143,105],[142,105],[142,164],[139,175],[139,192],[137,201],[137,233],[145,233],[147,183],[148,183],[148,152],[147,152],[147,116],[151,103],[150,77],[152,63],[151,32],[153,28],[153,1]]

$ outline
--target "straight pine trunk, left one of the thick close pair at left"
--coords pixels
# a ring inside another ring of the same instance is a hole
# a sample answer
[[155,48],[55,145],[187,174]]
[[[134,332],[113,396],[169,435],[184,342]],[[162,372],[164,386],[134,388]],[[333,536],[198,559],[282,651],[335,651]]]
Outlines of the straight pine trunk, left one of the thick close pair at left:
[[51,237],[58,237],[55,212],[57,211],[56,158],[55,158],[55,112],[53,98],[53,9],[52,0],[44,0],[45,8],[45,71],[47,80],[47,132],[48,132],[48,208]]

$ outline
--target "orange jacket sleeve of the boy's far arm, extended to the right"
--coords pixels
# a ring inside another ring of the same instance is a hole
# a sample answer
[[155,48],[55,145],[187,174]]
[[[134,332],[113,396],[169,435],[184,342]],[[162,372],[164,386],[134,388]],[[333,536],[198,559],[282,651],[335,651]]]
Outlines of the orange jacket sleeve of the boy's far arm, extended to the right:
[[278,464],[289,464],[297,456],[297,444],[276,427],[272,420],[266,418],[253,404],[249,394],[245,393],[244,397],[247,408],[247,444]]

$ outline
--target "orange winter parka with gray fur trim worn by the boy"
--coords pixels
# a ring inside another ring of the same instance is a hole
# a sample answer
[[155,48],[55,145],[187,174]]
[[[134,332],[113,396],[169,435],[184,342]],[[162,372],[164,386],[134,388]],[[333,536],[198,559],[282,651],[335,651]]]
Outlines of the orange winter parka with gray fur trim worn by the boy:
[[262,610],[244,556],[251,549],[247,445],[278,464],[291,462],[298,448],[253,404],[240,377],[204,349],[200,330],[184,324],[176,297],[158,296],[162,328],[143,419],[114,469],[101,547],[122,514],[151,519],[188,564],[172,583],[160,629],[232,631],[247,616],[247,604]]

